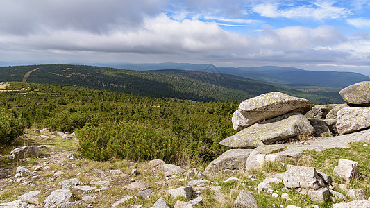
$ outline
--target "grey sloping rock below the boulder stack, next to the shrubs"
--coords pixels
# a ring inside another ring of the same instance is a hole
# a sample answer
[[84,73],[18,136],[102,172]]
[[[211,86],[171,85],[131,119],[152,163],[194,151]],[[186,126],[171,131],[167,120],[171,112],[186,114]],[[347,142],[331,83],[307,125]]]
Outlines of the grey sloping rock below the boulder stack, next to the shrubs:
[[246,159],[253,150],[250,149],[231,149],[213,160],[205,173],[217,173],[219,171],[239,171],[244,168]]

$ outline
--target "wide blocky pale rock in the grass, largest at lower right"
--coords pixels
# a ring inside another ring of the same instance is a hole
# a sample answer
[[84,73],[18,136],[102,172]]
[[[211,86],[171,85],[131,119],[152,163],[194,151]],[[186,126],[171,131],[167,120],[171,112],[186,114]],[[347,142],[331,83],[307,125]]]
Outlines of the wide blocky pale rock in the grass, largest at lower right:
[[317,190],[319,181],[315,168],[287,165],[283,182],[287,188],[302,188]]

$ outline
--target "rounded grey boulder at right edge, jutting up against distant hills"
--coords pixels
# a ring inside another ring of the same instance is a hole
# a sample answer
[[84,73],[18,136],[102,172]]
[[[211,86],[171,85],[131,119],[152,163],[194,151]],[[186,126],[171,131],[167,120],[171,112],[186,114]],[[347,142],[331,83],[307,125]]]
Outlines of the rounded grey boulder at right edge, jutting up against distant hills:
[[343,100],[355,105],[370,105],[370,82],[350,85],[339,92]]

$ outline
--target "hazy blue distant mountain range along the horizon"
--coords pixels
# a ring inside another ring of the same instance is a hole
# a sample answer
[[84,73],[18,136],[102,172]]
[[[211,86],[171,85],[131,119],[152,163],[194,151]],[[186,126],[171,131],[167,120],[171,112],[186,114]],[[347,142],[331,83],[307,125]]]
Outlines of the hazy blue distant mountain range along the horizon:
[[361,73],[339,71],[308,71],[294,67],[216,67],[209,64],[97,64],[101,67],[149,71],[158,69],[179,69],[208,73],[226,73],[244,78],[251,78],[268,83],[292,87],[322,86],[344,88],[362,81],[370,81],[370,76]]

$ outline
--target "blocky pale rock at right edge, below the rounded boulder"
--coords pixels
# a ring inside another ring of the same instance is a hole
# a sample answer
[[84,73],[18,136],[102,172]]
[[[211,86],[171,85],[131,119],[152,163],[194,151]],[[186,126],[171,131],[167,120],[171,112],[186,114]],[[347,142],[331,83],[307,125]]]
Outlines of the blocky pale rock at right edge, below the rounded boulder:
[[370,107],[345,107],[337,112],[339,135],[370,127]]

